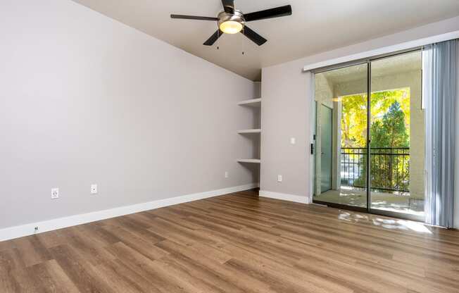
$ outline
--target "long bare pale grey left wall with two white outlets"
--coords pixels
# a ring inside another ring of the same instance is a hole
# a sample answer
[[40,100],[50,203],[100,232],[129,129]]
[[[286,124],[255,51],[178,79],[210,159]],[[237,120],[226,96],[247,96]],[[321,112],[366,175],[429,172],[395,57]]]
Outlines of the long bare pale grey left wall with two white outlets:
[[0,1],[0,39],[0,228],[253,182],[253,82],[70,0]]

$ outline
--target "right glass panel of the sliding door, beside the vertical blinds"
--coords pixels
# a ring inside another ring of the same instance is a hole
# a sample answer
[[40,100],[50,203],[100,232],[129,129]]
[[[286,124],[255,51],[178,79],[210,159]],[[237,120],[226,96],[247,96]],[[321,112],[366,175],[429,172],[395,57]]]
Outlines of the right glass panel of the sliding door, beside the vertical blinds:
[[424,215],[421,52],[371,63],[370,208]]

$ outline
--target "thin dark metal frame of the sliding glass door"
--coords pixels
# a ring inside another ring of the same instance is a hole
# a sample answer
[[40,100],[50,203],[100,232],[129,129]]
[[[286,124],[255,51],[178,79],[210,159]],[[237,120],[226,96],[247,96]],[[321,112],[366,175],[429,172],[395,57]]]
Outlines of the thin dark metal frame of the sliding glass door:
[[[370,159],[370,156],[371,156],[371,149],[370,149],[370,144],[371,144],[371,82],[372,82],[372,78],[371,78],[371,75],[372,75],[372,62],[373,61],[378,61],[378,60],[381,60],[381,59],[384,59],[384,58],[391,58],[391,57],[394,57],[394,56],[398,56],[398,55],[403,55],[403,54],[409,54],[409,53],[413,53],[415,51],[422,51],[422,46],[417,46],[417,47],[414,47],[414,48],[411,48],[411,49],[406,49],[406,50],[401,50],[401,51],[396,51],[396,52],[392,52],[392,53],[389,53],[389,54],[382,54],[382,55],[378,55],[378,56],[372,56],[372,57],[369,57],[369,58],[363,58],[363,59],[359,59],[359,60],[356,60],[356,61],[350,61],[350,62],[346,62],[346,63],[339,63],[339,64],[336,64],[336,65],[333,65],[333,66],[326,66],[326,67],[322,67],[322,68],[317,68],[317,69],[314,69],[314,70],[310,70],[310,73],[311,73],[311,80],[312,80],[312,92],[313,92],[313,95],[312,95],[312,99],[313,99],[313,102],[315,101],[315,74],[317,73],[324,73],[326,71],[330,71],[330,70],[337,70],[337,69],[340,69],[340,68],[346,68],[346,67],[350,67],[350,66],[358,66],[358,65],[363,65],[363,64],[367,64],[367,146],[366,146],[366,152],[367,152],[367,162],[366,162],[366,176],[365,176],[365,180],[366,180],[366,194],[367,194],[367,206],[366,208],[364,207],[360,207],[360,206],[348,206],[348,205],[345,205],[345,204],[334,204],[334,203],[329,203],[329,202],[326,202],[326,201],[317,201],[313,198],[313,194],[311,194],[311,197],[312,197],[312,201],[314,204],[321,204],[321,205],[325,205],[325,206],[330,206],[332,208],[341,208],[341,209],[346,209],[346,210],[350,210],[350,211],[358,211],[358,212],[363,212],[363,213],[372,213],[372,214],[375,214],[375,215],[380,215],[380,216],[389,216],[389,217],[394,217],[394,218],[402,218],[402,219],[406,219],[406,220],[415,220],[415,221],[420,221],[420,222],[424,222],[425,221],[425,218],[423,216],[415,216],[415,215],[410,215],[410,214],[407,214],[407,213],[396,213],[396,212],[393,212],[393,211],[384,211],[384,210],[379,210],[379,209],[376,209],[376,208],[372,208],[371,207],[371,159]],[[422,82],[421,82],[421,85],[422,85]],[[421,98],[422,99],[422,98]],[[316,123],[316,121],[315,121]],[[315,125],[314,123],[314,125]],[[317,127],[317,125],[315,125],[315,127]],[[313,161],[315,160],[315,156],[314,154],[312,154],[313,156]],[[315,162],[314,162],[314,165],[315,165]],[[313,170],[315,172],[315,170]],[[313,178],[315,177],[315,175],[312,176]],[[314,180],[314,179],[313,179]]]

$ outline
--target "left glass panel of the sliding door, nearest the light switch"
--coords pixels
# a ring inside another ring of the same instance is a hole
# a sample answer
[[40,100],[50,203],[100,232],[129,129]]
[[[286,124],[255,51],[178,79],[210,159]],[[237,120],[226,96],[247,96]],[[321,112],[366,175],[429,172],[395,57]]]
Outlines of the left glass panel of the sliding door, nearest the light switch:
[[314,201],[367,208],[367,64],[315,74]]

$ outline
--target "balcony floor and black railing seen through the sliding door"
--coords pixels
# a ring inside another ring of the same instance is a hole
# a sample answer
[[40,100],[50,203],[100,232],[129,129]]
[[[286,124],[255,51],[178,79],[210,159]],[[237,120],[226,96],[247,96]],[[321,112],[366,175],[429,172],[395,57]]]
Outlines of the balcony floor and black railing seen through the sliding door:
[[[422,216],[422,194],[410,192],[410,148],[371,148],[371,208]],[[367,149],[341,147],[337,188],[317,194],[322,202],[346,206],[367,206]]]

